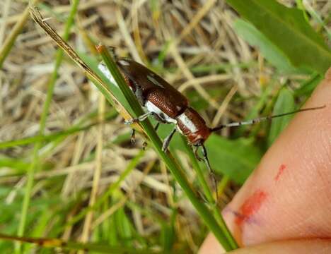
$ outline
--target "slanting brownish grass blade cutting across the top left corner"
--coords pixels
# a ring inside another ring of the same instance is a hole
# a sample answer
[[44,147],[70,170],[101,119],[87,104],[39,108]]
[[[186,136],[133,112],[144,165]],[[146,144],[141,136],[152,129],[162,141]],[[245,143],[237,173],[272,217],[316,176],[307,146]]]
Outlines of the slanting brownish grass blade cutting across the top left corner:
[[[33,0],[31,1],[32,4],[37,4],[39,0]],[[4,44],[0,48],[0,68],[2,68],[2,65],[4,64],[4,61],[6,57],[8,56],[9,52],[11,52],[11,48],[13,47],[13,44],[15,43],[16,38],[23,30],[23,27],[26,23],[26,20],[28,20],[29,17],[29,7],[26,7],[24,12],[22,13],[21,19],[18,20],[18,23],[16,23],[11,30],[11,33],[6,37],[6,40],[4,41]]]

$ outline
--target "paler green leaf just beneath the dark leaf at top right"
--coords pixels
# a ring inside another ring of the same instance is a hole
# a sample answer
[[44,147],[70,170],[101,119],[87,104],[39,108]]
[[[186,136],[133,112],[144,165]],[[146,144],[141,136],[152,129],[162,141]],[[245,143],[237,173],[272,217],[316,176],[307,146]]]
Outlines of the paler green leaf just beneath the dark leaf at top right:
[[299,70],[291,65],[291,62],[276,45],[265,35],[257,30],[254,25],[238,18],[233,26],[236,33],[250,45],[258,47],[262,55],[272,63],[279,71],[285,73],[297,73]]

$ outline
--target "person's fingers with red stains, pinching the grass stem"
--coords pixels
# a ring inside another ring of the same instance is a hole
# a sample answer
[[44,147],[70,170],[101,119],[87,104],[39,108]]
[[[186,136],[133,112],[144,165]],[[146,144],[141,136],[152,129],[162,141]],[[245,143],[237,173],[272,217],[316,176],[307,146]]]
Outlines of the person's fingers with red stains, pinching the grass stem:
[[[296,114],[223,210],[233,253],[331,253],[331,68],[303,107],[323,105]],[[199,250],[223,252],[211,234]]]

